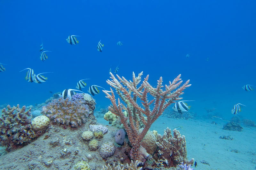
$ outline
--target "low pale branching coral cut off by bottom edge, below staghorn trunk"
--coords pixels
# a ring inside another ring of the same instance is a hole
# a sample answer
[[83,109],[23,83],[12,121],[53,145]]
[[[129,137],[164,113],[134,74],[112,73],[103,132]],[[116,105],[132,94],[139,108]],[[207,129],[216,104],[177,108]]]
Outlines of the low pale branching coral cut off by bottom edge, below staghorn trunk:
[[123,165],[120,162],[118,162],[117,165],[116,164],[113,164],[113,165],[108,164],[108,166],[105,165],[101,168],[101,170],[141,170],[142,167],[137,168],[137,165],[138,165],[138,160],[135,162],[133,162],[132,160],[130,165],[128,165],[128,163],[126,163],[126,165]]

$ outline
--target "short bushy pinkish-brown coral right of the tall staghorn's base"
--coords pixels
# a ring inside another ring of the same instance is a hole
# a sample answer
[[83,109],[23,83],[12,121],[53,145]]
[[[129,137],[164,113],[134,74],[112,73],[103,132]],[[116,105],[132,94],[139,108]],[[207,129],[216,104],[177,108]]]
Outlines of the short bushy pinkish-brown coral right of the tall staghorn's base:
[[159,151],[160,159],[164,159],[166,165],[177,166],[181,162],[193,164],[194,159],[188,161],[186,138],[181,136],[177,129],[172,131],[168,127],[164,130],[164,135],[157,135],[158,142],[156,142]]

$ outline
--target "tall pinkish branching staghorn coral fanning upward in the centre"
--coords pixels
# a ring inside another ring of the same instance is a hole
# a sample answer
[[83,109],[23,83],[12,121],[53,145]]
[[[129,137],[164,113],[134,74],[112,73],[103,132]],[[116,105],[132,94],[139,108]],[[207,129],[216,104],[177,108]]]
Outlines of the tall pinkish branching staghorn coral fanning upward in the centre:
[[[180,100],[181,98],[179,96],[183,94],[182,91],[190,86],[188,80],[178,88],[182,83],[182,80],[180,79],[181,75],[179,75],[172,82],[169,81],[169,85],[165,86],[163,86],[163,78],[160,77],[157,81],[156,88],[154,88],[148,83],[149,75],[147,75],[147,77],[144,78],[144,81],[140,84],[142,74],[143,72],[139,73],[138,77],[136,77],[133,72],[132,81],[128,81],[124,77],[116,75],[117,79],[110,72],[110,78],[112,80],[107,80],[107,83],[116,89],[117,94],[125,104],[121,103],[119,98],[116,103],[115,93],[112,88],[110,88],[110,91],[103,91],[112,103],[112,106],[108,108],[109,111],[120,117],[121,123],[123,123],[124,129],[127,132],[129,141],[132,145],[130,153],[131,158],[139,161],[142,161],[140,158],[140,142],[145,137],[152,123],[162,115],[164,110],[170,106],[174,100]],[[163,87],[165,87],[165,90],[162,89]],[[148,94],[154,99],[148,101]],[[142,107],[137,103],[137,99],[141,101]],[[153,109],[150,108],[151,106],[153,106]],[[127,117],[124,115],[124,111],[127,112]],[[147,120],[144,119],[144,116],[147,117]],[[130,124],[128,124],[127,119]],[[139,132],[141,121],[144,123],[145,127]]]

